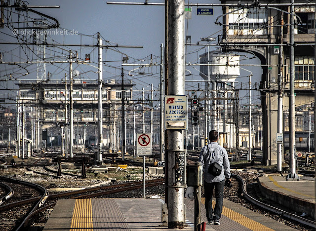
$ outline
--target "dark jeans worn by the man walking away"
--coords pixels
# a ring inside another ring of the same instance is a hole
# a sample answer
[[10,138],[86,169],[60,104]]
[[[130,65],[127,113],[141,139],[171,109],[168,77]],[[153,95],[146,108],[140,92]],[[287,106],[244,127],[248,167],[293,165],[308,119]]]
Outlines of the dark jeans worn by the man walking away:
[[[224,195],[224,184],[225,180],[214,183],[207,183],[204,181],[204,194],[205,194],[205,209],[207,221],[219,221],[221,218],[223,210],[223,195]],[[215,187],[215,207],[214,207],[214,217],[213,217],[213,191]]]

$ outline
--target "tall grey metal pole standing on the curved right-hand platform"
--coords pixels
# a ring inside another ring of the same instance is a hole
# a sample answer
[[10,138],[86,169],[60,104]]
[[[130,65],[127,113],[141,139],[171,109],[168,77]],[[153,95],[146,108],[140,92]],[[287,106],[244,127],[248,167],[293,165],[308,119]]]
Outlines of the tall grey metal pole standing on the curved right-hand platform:
[[[291,12],[294,12],[294,0],[291,1]],[[290,122],[290,132],[289,132],[289,149],[290,149],[290,173],[287,175],[288,178],[298,178],[296,174],[295,166],[295,157],[296,157],[296,147],[295,147],[295,95],[294,95],[294,24],[295,18],[294,15],[290,16],[290,113],[289,113],[289,122]],[[299,179],[299,178],[298,178]]]

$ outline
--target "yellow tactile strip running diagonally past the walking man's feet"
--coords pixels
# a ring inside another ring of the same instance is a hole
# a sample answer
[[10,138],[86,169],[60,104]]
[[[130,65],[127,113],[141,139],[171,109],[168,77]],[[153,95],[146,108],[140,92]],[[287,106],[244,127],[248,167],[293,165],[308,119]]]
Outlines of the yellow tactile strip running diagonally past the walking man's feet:
[[[205,197],[201,198],[201,203],[205,204]],[[213,207],[215,206],[215,201],[212,201]],[[270,229],[269,227],[266,227],[262,224],[260,224],[259,222],[256,222],[250,218],[247,218],[237,212],[235,212],[232,209],[229,209],[225,206],[223,206],[223,211],[222,211],[222,215],[228,217],[229,219],[237,222],[238,224],[248,228],[249,230],[253,230],[253,231],[274,231],[273,229]]]

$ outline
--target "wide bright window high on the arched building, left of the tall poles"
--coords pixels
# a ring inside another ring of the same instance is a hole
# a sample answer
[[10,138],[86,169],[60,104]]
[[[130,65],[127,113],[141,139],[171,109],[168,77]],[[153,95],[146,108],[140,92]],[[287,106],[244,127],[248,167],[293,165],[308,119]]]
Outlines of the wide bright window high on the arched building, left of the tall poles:
[[[229,12],[237,8],[230,8]],[[228,14],[228,35],[267,35],[268,13],[266,8],[240,9]]]

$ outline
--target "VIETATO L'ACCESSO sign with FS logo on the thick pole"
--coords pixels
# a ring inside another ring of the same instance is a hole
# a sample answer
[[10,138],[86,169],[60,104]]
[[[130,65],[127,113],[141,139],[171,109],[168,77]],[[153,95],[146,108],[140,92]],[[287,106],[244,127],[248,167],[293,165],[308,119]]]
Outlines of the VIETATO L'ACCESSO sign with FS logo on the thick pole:
[[186,130],[188,128],[188,97],[186,95],[164,96],[165,130]]

